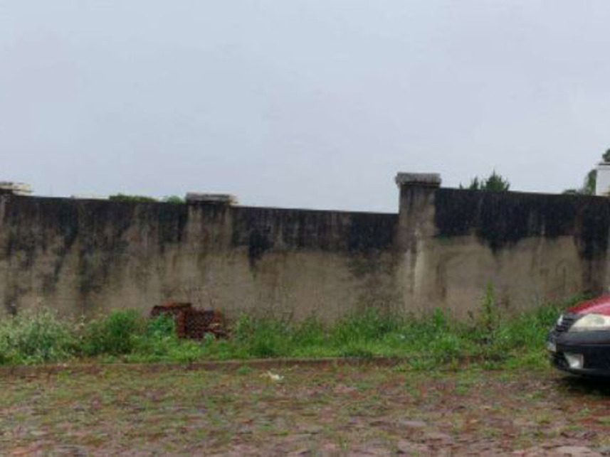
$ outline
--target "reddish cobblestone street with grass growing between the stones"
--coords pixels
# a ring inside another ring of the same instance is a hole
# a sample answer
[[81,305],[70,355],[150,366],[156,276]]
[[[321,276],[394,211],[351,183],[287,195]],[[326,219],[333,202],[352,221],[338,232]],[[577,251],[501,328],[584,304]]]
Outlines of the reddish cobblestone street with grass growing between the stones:
[[4,375],[0,453],[610,455],[610,387],[550,369]]

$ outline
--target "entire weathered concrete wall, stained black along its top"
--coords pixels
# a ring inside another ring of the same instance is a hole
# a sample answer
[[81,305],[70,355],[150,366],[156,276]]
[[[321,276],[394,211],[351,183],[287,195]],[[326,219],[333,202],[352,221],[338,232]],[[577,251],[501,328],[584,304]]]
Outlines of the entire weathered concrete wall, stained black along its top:
[[0,195],[0,316],[167,299],[326,321],[375,306],[517,311],[606,290],[610,203],[402,183],[399,214]]

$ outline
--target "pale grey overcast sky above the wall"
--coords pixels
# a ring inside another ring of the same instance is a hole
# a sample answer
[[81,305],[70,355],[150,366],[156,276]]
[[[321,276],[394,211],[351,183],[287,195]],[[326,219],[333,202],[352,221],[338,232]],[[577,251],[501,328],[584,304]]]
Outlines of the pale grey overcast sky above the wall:
[[579,186],[608,0],[0,0],[0,181],[396,211],[396,171]]

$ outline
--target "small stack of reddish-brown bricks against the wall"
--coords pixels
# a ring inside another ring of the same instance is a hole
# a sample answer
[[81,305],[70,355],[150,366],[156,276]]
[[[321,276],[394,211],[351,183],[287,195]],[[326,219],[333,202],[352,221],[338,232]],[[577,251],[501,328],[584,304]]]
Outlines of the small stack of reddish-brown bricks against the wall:
[[191,303],[169,301],[164,305],[152,308],[152,317],[163,314],[174,316],[176,333],[179,338],[201,340],[207,333],[216,338],[227,336],[224,318],[218,310],[201,310],[193,308]]

